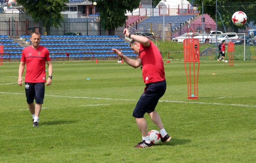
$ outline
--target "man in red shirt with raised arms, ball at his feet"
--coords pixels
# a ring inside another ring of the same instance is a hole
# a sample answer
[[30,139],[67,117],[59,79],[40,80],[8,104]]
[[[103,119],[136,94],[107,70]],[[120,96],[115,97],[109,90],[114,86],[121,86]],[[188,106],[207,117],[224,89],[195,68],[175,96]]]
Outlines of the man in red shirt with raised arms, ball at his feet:
[[164,62],[159,49],[147,37],[132,35],[129,30],[124,29],[124,35],[132,39],[131,49],[139,55],[137,60],[130,59],[122,54],[118,49],[112,49],[118,57],[122,58],[128,65],[134,68],[142,66],[142,77],[146,87],[140,96],[132,116],[134,116],[138,128],[142,134],[142,141],[134,147],[151,147],[148,136],[148,127],[144,114],[148,113],[151,120],[156,124],[161,133],[161,141],[164,143],[170,141],[170,137],[164,129],[162,120],[155,111],[158,100],[164,95],[166,90],[166,81],[164,73]]

